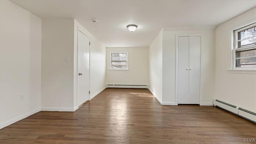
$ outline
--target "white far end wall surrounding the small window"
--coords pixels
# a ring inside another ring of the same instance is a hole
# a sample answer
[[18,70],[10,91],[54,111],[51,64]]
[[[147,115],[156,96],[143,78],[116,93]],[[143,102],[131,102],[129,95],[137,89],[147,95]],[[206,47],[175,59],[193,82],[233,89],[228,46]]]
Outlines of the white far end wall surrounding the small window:
[[[111,52],[128,52],[129,70],[109,70]],[[148,47],[107,48],[106,84],[148,85]]]

